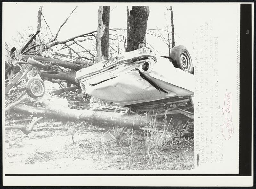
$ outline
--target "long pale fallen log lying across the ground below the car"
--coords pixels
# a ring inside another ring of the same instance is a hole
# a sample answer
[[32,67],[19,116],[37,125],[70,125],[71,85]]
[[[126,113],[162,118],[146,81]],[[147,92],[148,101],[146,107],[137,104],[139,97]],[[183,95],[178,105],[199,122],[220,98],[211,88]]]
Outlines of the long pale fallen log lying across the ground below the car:
[[140,117],[139,115],[92,110],[76,110],[52,104],[48,100],[44,100],[42,104],[45,108],[19,104],[12,110],[20,114],[32,114],[37,117],[48,117],[67,121],[85,121],[87,123],[100,126],[122,126],[140,129],[140,126],[146,126],[148,123],[148,119],[146,117]]

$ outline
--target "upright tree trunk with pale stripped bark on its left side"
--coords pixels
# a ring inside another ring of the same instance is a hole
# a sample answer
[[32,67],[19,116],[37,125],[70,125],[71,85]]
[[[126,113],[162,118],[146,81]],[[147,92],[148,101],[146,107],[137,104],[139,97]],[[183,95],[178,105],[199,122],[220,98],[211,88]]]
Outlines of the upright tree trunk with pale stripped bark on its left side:
[[108,58],[109,40],[109,6],[99,6],[98,27],[96,36],[96,62]]

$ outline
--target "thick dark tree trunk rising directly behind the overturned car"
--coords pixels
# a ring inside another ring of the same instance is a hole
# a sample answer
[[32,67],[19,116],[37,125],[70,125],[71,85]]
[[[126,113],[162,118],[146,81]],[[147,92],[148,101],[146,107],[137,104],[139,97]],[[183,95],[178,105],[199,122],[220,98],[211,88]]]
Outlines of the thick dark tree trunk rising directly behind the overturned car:
[[146,30],[149,16],[148,6],[127,7],[127,48],[126,52],[146,46]]

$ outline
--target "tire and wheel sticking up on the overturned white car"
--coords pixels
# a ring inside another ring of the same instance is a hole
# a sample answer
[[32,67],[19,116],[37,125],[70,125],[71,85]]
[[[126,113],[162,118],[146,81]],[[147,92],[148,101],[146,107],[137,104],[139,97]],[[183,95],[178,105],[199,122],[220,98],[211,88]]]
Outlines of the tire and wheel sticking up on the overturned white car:
[[170,58],[176,68],[180,68],[188,73],[193,73],[191,56],[183,45],[175,46],[170,52]]

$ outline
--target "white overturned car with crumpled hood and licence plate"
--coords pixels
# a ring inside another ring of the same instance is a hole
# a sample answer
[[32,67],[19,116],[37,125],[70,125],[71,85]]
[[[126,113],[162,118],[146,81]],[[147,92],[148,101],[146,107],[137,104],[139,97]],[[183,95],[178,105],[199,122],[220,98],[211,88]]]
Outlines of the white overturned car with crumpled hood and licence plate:
[[192,73],[183,45],[173,47],[167,58],[143,47],[83,68],[75,80],[88,94],[139,115],[181,113],[194,119]]

